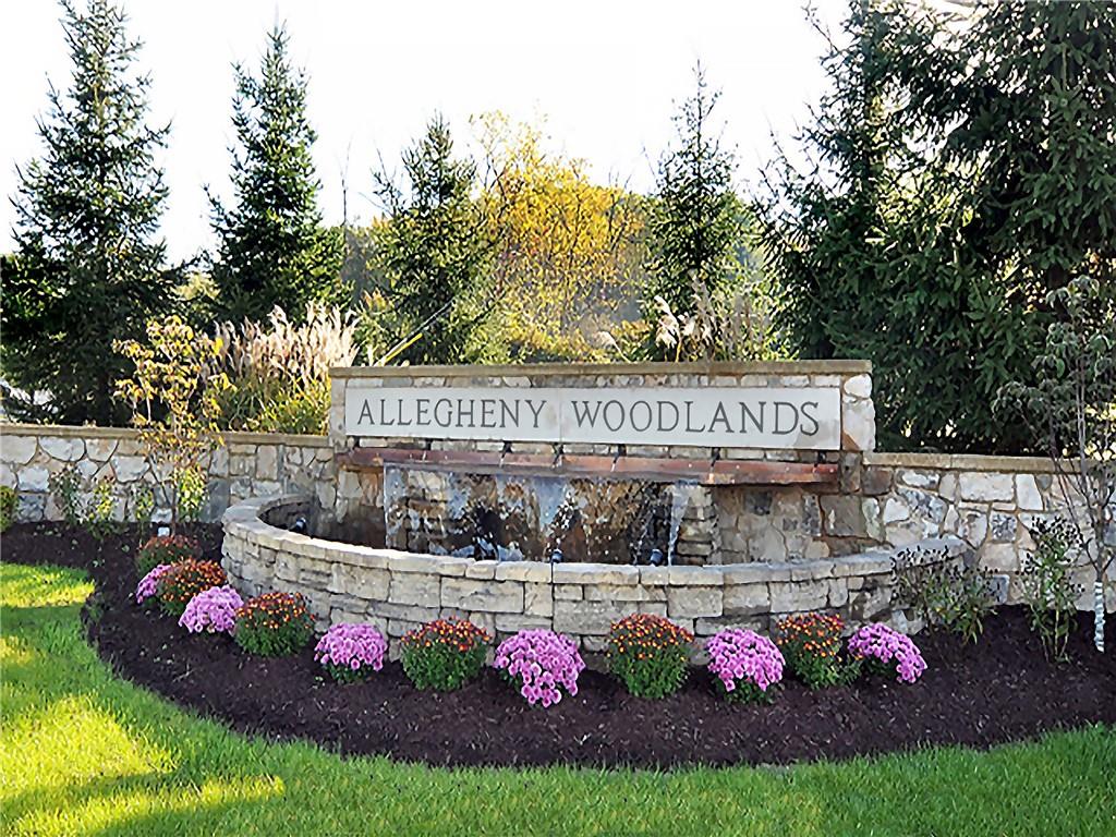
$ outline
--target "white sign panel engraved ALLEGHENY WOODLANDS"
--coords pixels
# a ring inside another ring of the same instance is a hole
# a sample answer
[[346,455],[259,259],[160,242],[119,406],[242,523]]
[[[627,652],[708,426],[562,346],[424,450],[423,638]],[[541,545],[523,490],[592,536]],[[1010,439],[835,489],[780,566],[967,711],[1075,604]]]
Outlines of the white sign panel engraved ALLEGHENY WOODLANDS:
[[362,387],[345,433],[510,442],[838,450],[837,387]]

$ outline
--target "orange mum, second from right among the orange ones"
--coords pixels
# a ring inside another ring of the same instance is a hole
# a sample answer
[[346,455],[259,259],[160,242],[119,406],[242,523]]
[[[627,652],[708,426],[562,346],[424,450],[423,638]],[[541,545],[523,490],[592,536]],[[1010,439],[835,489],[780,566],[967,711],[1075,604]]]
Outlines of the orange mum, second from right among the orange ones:
[[693,638],[662,616],[625,616],[608,634],[608,666],[637,698],[665,698],[685,680]]

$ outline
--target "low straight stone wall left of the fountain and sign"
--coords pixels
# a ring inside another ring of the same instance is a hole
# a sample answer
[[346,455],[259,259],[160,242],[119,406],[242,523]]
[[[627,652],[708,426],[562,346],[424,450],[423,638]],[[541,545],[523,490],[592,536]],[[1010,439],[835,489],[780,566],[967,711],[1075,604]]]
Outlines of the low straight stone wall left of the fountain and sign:
[[[334,502],[336,466],[325,436],[229,432],[209,462],[209,502],[204,519],[217,521],[230,504],[285,491],[316,492]],[[93,483],[114,480],[116,517],[133,517],[132,490],[154,485],[138,433],[118,427],[0,424],[0,484],[19,493],[19,521],[59,520],[50,477],[67,465],[81,475],[88,498]]]

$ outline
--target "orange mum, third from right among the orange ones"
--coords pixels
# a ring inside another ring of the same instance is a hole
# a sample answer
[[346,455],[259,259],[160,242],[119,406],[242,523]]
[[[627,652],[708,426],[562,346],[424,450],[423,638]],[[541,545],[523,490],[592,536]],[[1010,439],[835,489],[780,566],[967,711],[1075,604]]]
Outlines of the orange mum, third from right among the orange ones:
[[427,622],[403,637],[403,671],[417,689],[460,689],[481,673],[490,638],[463,619]]

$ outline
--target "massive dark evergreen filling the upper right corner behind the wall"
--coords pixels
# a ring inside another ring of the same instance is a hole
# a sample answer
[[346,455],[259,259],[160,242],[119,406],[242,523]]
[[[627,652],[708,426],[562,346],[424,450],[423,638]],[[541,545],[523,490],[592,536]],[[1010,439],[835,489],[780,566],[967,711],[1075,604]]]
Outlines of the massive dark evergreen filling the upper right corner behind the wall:
[[852,0],[763,240],[798,353],[875,365],[884,445],[1018,453],[993,403],[1043,350],[1049,291],[1116,273],[1116,10],[966,18]]

